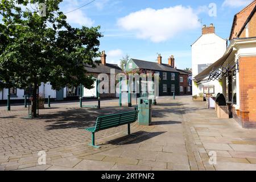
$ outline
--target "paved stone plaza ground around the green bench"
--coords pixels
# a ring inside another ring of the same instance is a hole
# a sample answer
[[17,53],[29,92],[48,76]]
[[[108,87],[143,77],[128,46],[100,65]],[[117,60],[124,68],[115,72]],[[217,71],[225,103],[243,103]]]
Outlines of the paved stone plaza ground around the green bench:
[[[152,125],[131,126],[137,137],[126,135],[127,126],[108,129],[96,133],[101,148],[92,148],[84,128],[98,115],[133,110],[119,108],[118,100],[101,105],[54,104],[38,119],[23,119],[23,106],[0,107],[0,170],[256,170],[256,129],[218,119],[191,96],[160,97]],[[40,166],[42,150],[47,164]],[[210,151],[217,152],[216,165],[209,164]]]

